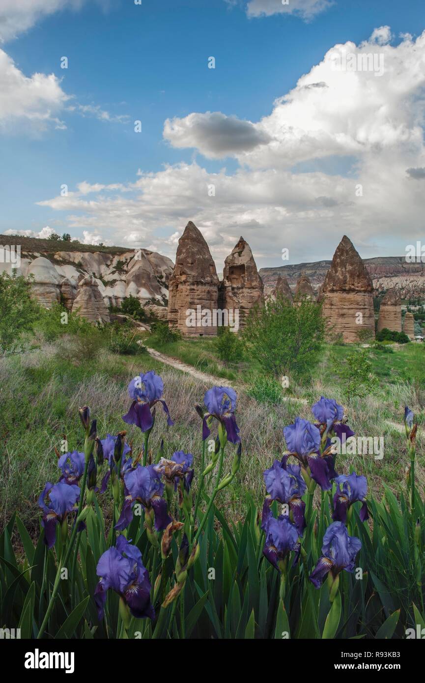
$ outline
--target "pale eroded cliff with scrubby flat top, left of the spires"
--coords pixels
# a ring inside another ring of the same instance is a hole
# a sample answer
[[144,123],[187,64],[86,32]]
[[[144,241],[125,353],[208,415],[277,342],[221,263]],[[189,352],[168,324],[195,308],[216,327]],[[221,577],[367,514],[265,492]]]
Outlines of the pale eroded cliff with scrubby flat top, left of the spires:
[[[141,305],[150,302],[167,310],[167,283],[174,264],[166,256],[148,249],[117,248],[117,253],[113,253],[113,248],[102,251],[98,247],[98,251],[93,251],[90,247],[85,251],[81,245],[81,250],[76,250],[72,242],[57,242],[64,248],[54,251],[46,241],[0,235],[0,249],[23,242],[17,270],[25,277],[33,276],[33,293],[43,306],[50,308],[62,301],[72,310],[81,282],[90,277],[90,291],[98,289],[100,298],[97,293],[93,296],[96,301],[102,299],[105,307],[120,306],[126,296],[132,295],[139,298]],[[14,267],[14,263],[0,262],[0,271],[12,273]],[[102,310],[100,317],[104,316]]]

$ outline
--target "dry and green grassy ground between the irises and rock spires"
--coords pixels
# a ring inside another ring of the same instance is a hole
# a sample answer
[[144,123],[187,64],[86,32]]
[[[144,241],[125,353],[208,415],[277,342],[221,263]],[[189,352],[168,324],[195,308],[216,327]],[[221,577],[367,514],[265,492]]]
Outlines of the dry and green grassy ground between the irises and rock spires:
[[[154,346],[153,342],[149,345]],[[148,343],[146,341],[146,343]],[[229,518],[237,519],[245,510],[245,494],[250,492],[260,504],[264,497],[262,471],[282,456],[282,428],[297,415],[313,419],[310,406],[320,395],[344,404],[342,386],[333,367],[335,357],[343,358],[347,346],[323,348],[312,376],[302,386],[294,386],[288,394],[269,395],[262,388],[259,368],[246,360],[224,367],[209,340],[177,342],[156,346],[156,350],[180,359],[201,371],[197,376],[171,367],[143,353],[118,356],[102,350],[97,357],[85,359],[64,353],[61,347],[44,344],[40,350],[16,354],[0,360],[0,526],[17,509],[32,535],[38,532],[37,499],[44,483],[57,480],[57,457],[61,440],[66,438],[68,450],[81,450],[81,426],[77,409],[89,405],[98,420],[98,435],[104,438],[127,428],[133,451],[141,449],[141,434],[126,426],[122,415],[130,402],[128,382],[139,372],[156,370],[164,380],[164,398],[175,420],[167,427],[162,410],[156,410],[156,423],[150,439],[154,454],[164,438],[165,457],[176,450],[200,459],[202,428],[193,406],[202,402],[212,382],[203,373],[213,375],[222,385],[226,378],[238,391],[236,417],[241,428],[243,458],[238,476],[223,491],[223,507]],[[333,358],[333,359],[332,359]],[[425,348],[407,344],[394,353],[371,353],[373,372],[379,386],[363,399],[346,406],[348,423],[359,436],[383,438],[383,458],[373,454],[341,454],[336,469],[348,473],[351,466],[368,476],[370,489],[383,492],[387,484],[398,494],[405,488],[405,466],[408,464],[402,417],[405,404],[417,415],[417,479],[424,490],[424,360]],[[183,368],[184,370],[184,368]],[[213,378],[211,378],[213,379]],[[260,386],[260,389],[258,389]],[[284,400],[290,398],[290,400]],[[231,456],[229,447],[228,467]],[[108,494],[105,494],[108,495]],[[105,507],[108,507],[105,505]]]

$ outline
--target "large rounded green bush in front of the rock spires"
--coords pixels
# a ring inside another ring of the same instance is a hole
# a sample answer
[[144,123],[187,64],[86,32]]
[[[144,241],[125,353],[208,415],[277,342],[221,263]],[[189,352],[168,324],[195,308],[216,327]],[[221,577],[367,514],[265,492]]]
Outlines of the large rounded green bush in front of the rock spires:
[[321,304],[303,298],[291,305],[277,296],[251,309],[242,338],[266,372],[275,377],[304,374],[316,362],[325,338]]

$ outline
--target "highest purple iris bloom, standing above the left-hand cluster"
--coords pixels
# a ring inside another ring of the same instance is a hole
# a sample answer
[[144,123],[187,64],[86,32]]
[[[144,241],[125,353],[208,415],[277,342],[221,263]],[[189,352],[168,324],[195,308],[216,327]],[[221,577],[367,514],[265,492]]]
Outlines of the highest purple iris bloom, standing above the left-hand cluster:
[[170,427],[174,425],[168,406],[161,398],[163,391],[164,382],[154,370],[137,375],[128,385],[128,395],[133,399],[133,403],[128,413],[122,416],[124,422],[136,425],[142,432],[148,432],[154,424],[151,408],[159,402],[163,405],[164,413],[167,415],[168,425]]

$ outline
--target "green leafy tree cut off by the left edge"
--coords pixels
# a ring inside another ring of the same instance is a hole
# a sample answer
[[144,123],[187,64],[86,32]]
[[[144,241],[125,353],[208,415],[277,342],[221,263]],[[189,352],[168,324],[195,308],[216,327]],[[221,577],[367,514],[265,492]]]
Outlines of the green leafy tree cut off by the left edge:
[[31,298],[31,280],[23,275],[0,273],[0,350],[3,354],[22,348],[20,339],[32,332],[40,307]]

